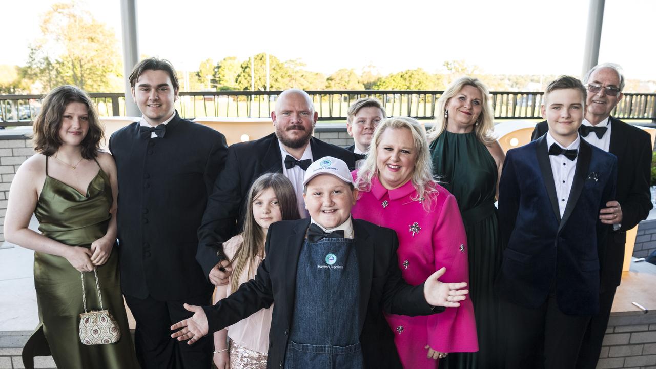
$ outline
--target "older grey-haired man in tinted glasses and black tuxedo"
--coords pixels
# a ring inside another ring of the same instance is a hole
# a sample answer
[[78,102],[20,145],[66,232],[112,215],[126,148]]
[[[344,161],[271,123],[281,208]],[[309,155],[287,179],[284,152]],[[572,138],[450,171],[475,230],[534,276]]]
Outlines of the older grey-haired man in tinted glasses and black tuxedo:
[[[602,222],[613,225],[601,260],[600,311],[590,320],[577,360],[577,368],[594,369],[622,276],[626,230],[646,219],[652,207],[649,191],[652,147],[648,133],[610,116],[623,97],[625,81],[619,66],[595,66],[584,77],[584,83],[588,88],[588,108],[579,133],[588,143],[617,156],[615,198],[600,211]],[[546,121],[538,123],[532,139],[538,139],[546,130]]]

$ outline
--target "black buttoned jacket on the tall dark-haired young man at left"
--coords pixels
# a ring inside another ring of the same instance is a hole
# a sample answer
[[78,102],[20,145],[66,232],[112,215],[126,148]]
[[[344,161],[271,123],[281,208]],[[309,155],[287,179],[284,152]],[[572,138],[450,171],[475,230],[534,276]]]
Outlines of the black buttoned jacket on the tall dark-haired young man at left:
[[110,138],[118,169],[121,288],[161,301],[211,290],[195,261],[196,231],[228,152],[224,135],[177,112],[165,127],[164,137],[151,139],[136,122]]

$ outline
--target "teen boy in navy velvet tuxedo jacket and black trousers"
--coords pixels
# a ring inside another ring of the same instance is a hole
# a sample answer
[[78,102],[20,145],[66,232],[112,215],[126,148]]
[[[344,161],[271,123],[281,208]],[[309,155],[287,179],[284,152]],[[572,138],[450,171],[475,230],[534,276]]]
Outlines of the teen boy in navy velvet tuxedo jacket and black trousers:
[[615,196],[617,160],[579,137],[586,89],[560,77],[544,93],[549,130],[508,151],[499,183],[504,257],[496,288],[505,368],[574,368],[599,310],[599,210]]

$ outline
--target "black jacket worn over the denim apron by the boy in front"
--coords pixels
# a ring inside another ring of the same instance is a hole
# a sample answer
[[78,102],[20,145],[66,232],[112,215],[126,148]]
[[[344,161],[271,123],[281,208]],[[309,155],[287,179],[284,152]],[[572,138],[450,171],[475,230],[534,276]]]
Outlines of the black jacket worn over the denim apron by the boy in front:
[[[294,313],[298,256],[309,225],[310,219],[271,225],[265,246],[266,258],[258,267],[255,278],[213,307],[204,307],[209,332],[216,332],[274,303],[268,368],[285,367],[287,336]],[[417,316],[439,313],[444,308],[431,308],[424,299],[424,285],[410,286],[401,277],[396,256],[398,238],[394,230],[361,219],[353,219],[353,230],[359,268],[359,316],[358,320],[356,316],[344,316],[340,323],[359,322],[365,368],[401,368],[394,334],[383,311]]]

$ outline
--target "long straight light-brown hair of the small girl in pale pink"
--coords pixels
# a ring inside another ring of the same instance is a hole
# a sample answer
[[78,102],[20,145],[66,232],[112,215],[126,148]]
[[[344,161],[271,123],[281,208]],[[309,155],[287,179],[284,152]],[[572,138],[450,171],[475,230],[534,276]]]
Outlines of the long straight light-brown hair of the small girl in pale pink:
[[241,272],[248,268],[247,275],[251,276],[251,272],[255,274],[257,268],[254,263],[255,257],[264,257],[264,232],[262,227],[255,221],[255,217],[253,217],[253,202],[267,188],[274,190],[283,220],[300,218],[294,187],[282,173],[266,173],[253,182],[246,198],[246,213],[242,232],[244,241],[237,248],[232,260],[230,260],[233,268],[230,288],[233,292],[239,288]]

